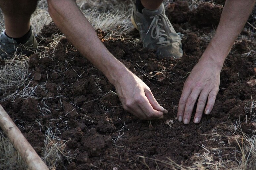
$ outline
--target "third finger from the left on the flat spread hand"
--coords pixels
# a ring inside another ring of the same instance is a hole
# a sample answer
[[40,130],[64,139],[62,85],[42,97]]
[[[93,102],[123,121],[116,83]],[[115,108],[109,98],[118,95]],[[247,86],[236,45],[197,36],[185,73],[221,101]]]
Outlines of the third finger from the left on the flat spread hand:
[[197,102],[197,107],[196,107],[196,112],[195,112],[195,117],[194,117],[194,123],[199,123],[201,121],[208,94],[209,94],[209,92],[202,91],[199,96],[199,99]]

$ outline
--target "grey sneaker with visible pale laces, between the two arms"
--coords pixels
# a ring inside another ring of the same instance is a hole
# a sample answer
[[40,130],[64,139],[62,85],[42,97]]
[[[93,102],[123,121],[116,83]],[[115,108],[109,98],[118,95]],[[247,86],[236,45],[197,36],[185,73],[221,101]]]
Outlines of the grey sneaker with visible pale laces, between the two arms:
[[134,3],[131,20],[134,27],[139,30],[144,47],[156,49],[156,54],[160,58],[182,57],[180,36],[166,17],[163,4],[158,10],[144,8],[140,13]]

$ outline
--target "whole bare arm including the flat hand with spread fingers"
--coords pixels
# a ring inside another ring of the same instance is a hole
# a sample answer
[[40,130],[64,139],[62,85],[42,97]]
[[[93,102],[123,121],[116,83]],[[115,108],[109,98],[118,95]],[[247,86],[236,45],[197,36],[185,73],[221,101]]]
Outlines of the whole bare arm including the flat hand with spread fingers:
[[255,0],[226,1],[213,39],[184,84],[177,113],[179,121],[189,123],[197,99],[194,123],[200,122],[203,112],[210,114],[212,111],[219,90],[223,63],[254,4]]

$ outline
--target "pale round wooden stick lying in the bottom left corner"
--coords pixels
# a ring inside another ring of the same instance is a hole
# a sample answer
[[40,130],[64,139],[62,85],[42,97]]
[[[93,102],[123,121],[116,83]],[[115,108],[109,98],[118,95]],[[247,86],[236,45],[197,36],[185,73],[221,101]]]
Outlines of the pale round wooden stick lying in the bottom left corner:
[[30,170],[49,170],[1,105],[0,127],[21,154],[22,159],[27,163]]

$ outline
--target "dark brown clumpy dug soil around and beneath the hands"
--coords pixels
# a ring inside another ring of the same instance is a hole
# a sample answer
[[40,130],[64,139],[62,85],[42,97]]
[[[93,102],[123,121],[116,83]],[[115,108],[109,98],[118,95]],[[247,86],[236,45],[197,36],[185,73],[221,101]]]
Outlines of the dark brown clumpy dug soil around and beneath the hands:
[[[222,3],[219,1],[219,5]],[[256,99],[255,86],[246,83],[256,78],[255,56],[242,55],[256,50],[255,34],[248,29],[243,30],[246,36],[236,41],[224,63],[220,90],[211,114],[204,115],[199,124],[184,125],[175,119],[187,74],[210,41],[203,35],[209,35],[217,26],[221,10],[221,6],[203,3],[197,10],[189,11],[185,1],[176,1],[172,12],[167,9],[176,31],[183,34],[184,56],[177,60],[158,59],[153,50],[143,48],[141,43],[134,46],[130,40],[138,38],[136,30],[127,33],[124,40],[105,40],[104,33],[97,30],[108,50],[139,76],[169,111],[162,120],[142,121],[124,111],[117,95],[111,93],[115,92],[114,86],[66,38],[54,49],[50,48],[44,58],[38,54],[30,56],[30,86],[46,82],[45,88],[38,86],[34,97],[17,97],[0,104],[13,120],[18,120],[16,124],[24,127],[22,133],[39,155],[45,131],[49,127],[59,131],[56,135],[68,140],[66,150],[77,154],[72,163],[63,162],[70,170],[147,169],[147,166],[165,169],[169,167],[167,164],[156,164],[151,159],[168,161],[168,158],[189,166],[194,153],[207,152],[203,147],[225,148],[210,150],[214,161],[236,161],[241,156],[239,147],[224,136],[241,134],[230,128],[237,120],[241,121],[240,129],[249,136],[254,135],[256,128],[252,124],[256,109],[250,113],[245,108],[246,102]],[[60,33],[51,24],[44,27],[41,35],[51,37],[56,32]],[[41,41],[41,45],[46,46],[51,41]],[[43,113],[39,109],[42,107],[48,111]],[[167,120],[173,120],[172,127],[165,124]],[[236,153],[236,157],[230,153]]]

